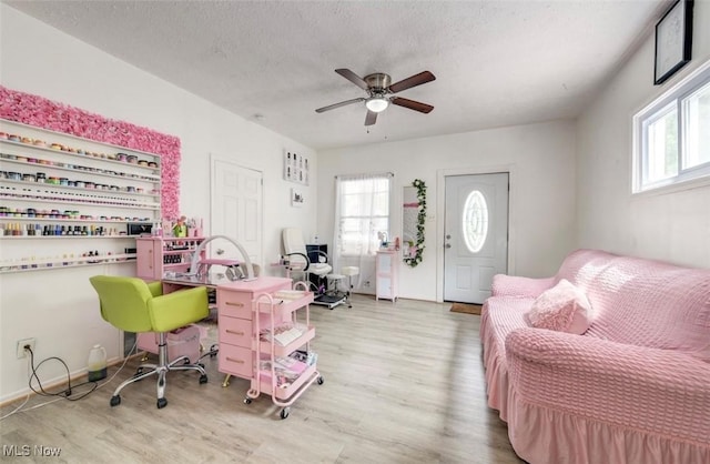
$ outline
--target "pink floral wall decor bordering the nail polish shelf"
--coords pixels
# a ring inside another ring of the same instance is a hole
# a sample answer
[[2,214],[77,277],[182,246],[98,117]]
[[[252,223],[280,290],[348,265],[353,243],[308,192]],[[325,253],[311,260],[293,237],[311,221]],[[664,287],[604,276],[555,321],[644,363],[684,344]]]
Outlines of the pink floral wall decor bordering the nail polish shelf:
[[0,118],[161,157],[162,214],[180,211],[180,139],[0,85]]

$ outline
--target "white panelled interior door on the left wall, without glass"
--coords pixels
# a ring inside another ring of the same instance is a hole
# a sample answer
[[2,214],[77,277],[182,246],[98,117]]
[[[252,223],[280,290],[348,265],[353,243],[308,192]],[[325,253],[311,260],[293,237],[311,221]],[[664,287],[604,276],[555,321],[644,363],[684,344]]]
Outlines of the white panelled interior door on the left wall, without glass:
[[[213,235],[236,240],[254,264],[262,262],[263,174],[239,164],[212,160],[212,223]],[[242,259],[229,242],[215,240],[211,251],[223,249],[223,258]]]

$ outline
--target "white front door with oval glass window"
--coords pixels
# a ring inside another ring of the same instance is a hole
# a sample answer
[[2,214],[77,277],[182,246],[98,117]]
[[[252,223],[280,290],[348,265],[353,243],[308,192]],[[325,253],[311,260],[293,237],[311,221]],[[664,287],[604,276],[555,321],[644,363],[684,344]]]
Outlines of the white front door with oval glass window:
[[483,303],[507,272],[508,173],[445,178],[444,300]]

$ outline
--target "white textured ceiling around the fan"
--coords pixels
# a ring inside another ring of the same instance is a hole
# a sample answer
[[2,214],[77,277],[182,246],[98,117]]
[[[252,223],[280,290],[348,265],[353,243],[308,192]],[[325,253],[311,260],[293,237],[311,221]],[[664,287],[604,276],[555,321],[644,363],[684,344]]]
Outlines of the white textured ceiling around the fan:
[[[9,1],[119,59],[316,150],[577,115],[667,0]],[[649,79],[652,75],[649,63]],[[336,74],[423,70],[364,127]],[[260,117],[257,117],[260,115]]]

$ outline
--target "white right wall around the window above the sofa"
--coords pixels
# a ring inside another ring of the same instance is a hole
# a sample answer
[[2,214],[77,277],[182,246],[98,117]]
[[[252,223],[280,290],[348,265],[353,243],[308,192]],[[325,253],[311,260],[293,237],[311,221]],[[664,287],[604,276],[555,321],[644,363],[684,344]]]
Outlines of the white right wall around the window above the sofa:
[[[710,186],[631,195],[631,118],[710,59],[710,2],[694,3],[692,61],[653,85],[653,30],[578,122],[578,243],[710,266]],[[704,130],[710,130],[706,128]]]

